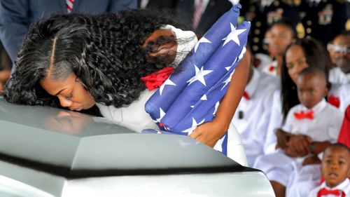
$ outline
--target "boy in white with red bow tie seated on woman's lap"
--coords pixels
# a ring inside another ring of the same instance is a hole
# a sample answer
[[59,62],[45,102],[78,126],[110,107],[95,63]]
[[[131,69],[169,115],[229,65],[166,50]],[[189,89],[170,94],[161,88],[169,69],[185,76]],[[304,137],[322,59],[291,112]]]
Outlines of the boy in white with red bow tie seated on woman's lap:
[[[311,173],[314,170],[302,168],[321,163],[318,154],[337,141],[343,114],[325,102],[327,94],[323,70],[316,67],[302,70],[297,76],[297,96],[301,104],[290,109],[283,128],[276,132],[279,149],[255,161],[254,168],[265,172],[277,197],[286,196],[286,188],[295,180],[314,176]],[[303,173],[298,174],[300,171]],[[314,179],[319,177],[315,175]]]

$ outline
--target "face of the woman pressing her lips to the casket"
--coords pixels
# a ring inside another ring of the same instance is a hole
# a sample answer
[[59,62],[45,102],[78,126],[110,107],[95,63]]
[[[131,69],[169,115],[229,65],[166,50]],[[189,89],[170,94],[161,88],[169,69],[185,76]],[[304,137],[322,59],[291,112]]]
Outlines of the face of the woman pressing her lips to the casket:
[[50,95],[58,97],[62,107],[80,111],[90,109],[95,104],[94,98],[87,92],[76,74],[71,73],[62,80],[46,77],[40,84]]

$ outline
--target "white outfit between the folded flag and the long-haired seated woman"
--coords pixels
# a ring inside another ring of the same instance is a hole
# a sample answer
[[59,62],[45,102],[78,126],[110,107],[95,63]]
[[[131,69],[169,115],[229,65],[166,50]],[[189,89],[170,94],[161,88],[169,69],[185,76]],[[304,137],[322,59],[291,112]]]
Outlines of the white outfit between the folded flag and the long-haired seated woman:
[[232,123],[241,135],[248,166],[252,167],[257,156],[263,154],[263,145],[273,101],[273,93],[279,79],[259,72],[251,66],[244,95],[239,102]]

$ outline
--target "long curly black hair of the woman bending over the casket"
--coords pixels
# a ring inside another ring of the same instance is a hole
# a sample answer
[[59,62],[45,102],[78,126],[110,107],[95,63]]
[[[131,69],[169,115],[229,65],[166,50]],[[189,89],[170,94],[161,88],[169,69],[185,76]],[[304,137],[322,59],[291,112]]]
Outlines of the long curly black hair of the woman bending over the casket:
[[150,57],[156,46],[174,43],[174,36],[146,38],[163,25],[183,28],[159,11],[132,10],[113,14],[55,14],[32,26],[6,85],[8,102],[60,107],[40,81],[65,79],[71,72],[96,102],[123,107],[137,100],[146,86],[142,76],[169,66],[167,54]]

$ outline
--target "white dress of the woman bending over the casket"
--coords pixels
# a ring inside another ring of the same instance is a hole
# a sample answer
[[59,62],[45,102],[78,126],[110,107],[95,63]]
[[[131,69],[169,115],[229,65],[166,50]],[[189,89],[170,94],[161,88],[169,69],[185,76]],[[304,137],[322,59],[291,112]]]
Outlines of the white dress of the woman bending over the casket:
[[[172,25],[165,25],[162,29],[171,29],[176,36],[178,43],[174,62],[181,62],[197,43],[197,36],[194,32],[182,31]],[[172,66],[177,67],[177,64],[173,64]],[[155,124],[151,116],[145,111],[145,104],[155,91],[156,90],[144,90],[139,99],[132,102],[132,104],[127,107],[116,108],[114,106],[106,106],[102,103],[98,103],[97,107],[99,107],[102,116],[105,118],[109,118],[111,121],[116,121],[119,125],[130,128],[135,132],[141,133],[144,129],[159,129],[158,125]],[[243,143],[241,142],[239,133],[232,124],[230,125],[228,133],[227,156],[237,163],[246,166],[247,161],[246,155],[244,154]],[[220,143],[218,142],[218,144]],[[215,146],[214,149],[221,151],[220,146]]]

